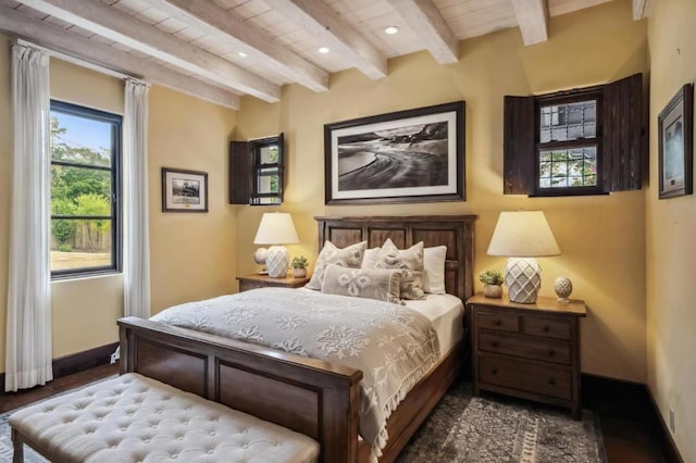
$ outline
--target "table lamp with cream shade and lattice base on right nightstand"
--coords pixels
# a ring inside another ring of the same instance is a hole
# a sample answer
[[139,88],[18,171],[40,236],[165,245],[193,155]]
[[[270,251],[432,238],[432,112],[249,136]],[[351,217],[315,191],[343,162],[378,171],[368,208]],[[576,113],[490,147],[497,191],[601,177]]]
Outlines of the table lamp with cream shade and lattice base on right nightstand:
[[536,302],[542,287],[542,267],[534,258],[560,253],[544,212],[500,212],[488,255],[510,258],[505,264],[505,284],[511,302]]

